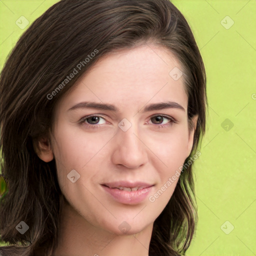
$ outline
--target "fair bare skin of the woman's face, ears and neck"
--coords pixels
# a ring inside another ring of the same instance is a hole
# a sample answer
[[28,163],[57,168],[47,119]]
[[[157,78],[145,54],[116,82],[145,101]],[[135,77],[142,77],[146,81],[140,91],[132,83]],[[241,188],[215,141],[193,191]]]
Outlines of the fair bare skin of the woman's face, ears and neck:
[[[55,108],[50,138],[39,141],[38,156],[56,160],[63,201],[60,236],[54,255],[148,255],[153,222],[170,199],[178,178],[149,200],[189,156],[197,116],[189,130],[188,98],[183,77],[169,72],[180,66],[166,49],[140,45],[101,58]],[[95,108],[68,110],[82,101],[109,103],[119,112]],[[174,101],[179,108],[139,112],[148,104]],[[82,119],[88,115],[101,116]],[[159,119],[153,118],[159,116]],[[175,122],[161,116],[174,118]],[[118,123],[126,118],[131,127]],[[79,120],[83,120],[79,122]],[[98,126],[96,128],[89,127]],[[158,127],[157,125],[169,125]],[[67,174],[80,178],[72,183]],[[130,180],[154,184],[136,204],[115,201],[100,184]],[[130,227],[123,233],[119,225]]]

